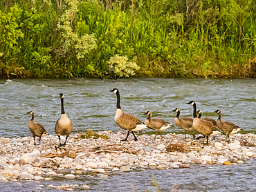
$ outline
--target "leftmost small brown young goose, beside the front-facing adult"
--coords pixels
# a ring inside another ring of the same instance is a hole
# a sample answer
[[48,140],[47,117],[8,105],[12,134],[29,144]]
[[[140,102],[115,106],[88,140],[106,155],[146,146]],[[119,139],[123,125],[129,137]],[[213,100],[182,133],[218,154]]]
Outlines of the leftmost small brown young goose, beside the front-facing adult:
[[40,144],[41,137],[44,136],[44,135],[49,135],[49,134],[44,129],[44,126],[42,124],[35,123],[35,121],[34,121],[34,117],[35,117],[34,111],[28,111],[28,114],[31,115],[31,119],[28,122],[28,128],[30,129],[30,131],[31,131],[31,133],[34,137],[34,144],[35,144],[35,136],[39,137],[39,144]]

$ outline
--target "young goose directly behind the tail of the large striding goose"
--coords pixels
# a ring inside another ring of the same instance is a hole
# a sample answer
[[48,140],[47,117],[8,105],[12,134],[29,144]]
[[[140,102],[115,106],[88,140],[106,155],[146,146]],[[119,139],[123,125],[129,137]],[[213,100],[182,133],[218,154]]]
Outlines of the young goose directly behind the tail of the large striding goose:
[[[156,135],[157,133],[160,133],[161,138],[163,138],[163,135],[161,134],[161,131],[164,131],[167,128],[173,127],[172,124],[165,122],[165,120],[163,119],[158,119],[158,118],[154,118],[152,119],[152,112],[151,111],[147,111],[146,113],[144,113],[144,115],[148,115],[147,119],[145,119],[145,124],[149,127],[154,129],[154,131],[156,131]],[[154,139],[156,140],[156,136],[154,137]]]

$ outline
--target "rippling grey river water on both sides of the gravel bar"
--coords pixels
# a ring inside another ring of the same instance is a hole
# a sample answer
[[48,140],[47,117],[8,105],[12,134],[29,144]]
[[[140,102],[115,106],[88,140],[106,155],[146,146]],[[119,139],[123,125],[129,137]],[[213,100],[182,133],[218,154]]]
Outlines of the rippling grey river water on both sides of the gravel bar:
[[[223,121],[237,124],[243,129],[241,133],[256,133],[256,79],[0,79],[0,137],[31,136],[30,115],[26,114],[30,110],[35,111],[35,122],[55,134],[55,122],[60,118],[60,93],[64,93],[64,109],[73,121],[73,133],[89,128],[119,131],[113,121],[116,95],[109,92],[113,88],[120,90],[122,110],[142,121],[146,118],[143,113],[152,111],[153,117],[174,123],[176,113],[172,110],[176,107],[180,108],[181,116],[192,117],[192,106],[186,103],[194,100],[203,116],[217,119],[213,111],[220,109]],[[166,132],[181,133],[181,129]],[[253,160],[224,168],[137,170],[113,174],[107,179],[89,179],[84,175],[70,183],[89,184],[93,191],[154,191],[150,183],[155,177],[161,191],[170,191],[171,187],[182,191],[256,191],[255,170]],[[38,183],[22,184],[22,189],[25,186],[30,191]],[[39,184],[48,186],[49,182]],[[11,186],[15,188],[15,184]]]

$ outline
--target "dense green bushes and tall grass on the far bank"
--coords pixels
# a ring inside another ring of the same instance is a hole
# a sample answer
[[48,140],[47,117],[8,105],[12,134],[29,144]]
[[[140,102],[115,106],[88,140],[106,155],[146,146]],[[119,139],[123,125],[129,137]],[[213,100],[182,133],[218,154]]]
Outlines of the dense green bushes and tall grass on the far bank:
[[0,77],[256,77],[253,0],[0,1]]

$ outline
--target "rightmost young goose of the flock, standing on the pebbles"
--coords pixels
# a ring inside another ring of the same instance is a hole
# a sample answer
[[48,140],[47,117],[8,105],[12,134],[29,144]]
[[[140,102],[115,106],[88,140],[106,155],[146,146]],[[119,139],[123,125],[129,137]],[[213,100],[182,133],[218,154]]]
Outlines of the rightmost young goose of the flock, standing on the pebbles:
[[241,131],[241,128],[239,126],[236,126],[235,124],[231,122],[222,122],[221,121],[221,111],[217,109],[214,111],[214,113],[218,113],[219,117],[217,119],[217,126],[226,133],[228,137],[228,142],[229,142],[229,135],[237,133],[238,131]]

